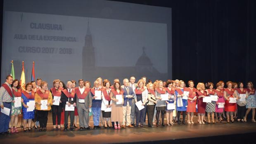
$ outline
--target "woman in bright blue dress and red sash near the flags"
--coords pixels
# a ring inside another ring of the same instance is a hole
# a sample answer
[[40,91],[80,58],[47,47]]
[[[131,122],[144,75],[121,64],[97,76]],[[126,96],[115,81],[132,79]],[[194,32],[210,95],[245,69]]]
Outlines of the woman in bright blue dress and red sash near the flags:
[[[24,132],[32,132],[32,119],[35,117],[34,111],[27,111],[27,102],[35,101],[35,94],[32,92],[32,83],[27,83],[25,86],[25,90],[21,93],[21,98],[23,99],[22,103],[22,112],[23,112],[23,124],[24,124]],[[28,130],[26,129],[28,123]]]

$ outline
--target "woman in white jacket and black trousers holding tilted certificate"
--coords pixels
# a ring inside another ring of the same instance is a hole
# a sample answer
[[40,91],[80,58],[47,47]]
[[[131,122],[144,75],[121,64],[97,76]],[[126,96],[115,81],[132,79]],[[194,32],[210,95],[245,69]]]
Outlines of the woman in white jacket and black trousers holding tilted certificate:
[[[138,87],[135,89],[135,127],[143,127],[143,122],[145,118],[146,108],[144,107],[147,103],[148,91],[145,88],[145,83],[140,79],[137,83]],[[137,103],[137,104],[136,104]],[[139,105],[139,106],[138,106]],[[141,109],[142,107],[143,109]]]

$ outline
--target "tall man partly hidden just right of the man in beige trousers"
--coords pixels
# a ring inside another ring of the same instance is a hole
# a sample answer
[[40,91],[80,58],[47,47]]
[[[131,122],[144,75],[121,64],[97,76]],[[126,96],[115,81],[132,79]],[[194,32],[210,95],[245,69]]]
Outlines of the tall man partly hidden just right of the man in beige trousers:
[[[137,87],[137,83],[135,83],[135,77],[131,76],[130,77],[130,83],[129,86],[133,88],[133,93],[135,93],[135,88]],[[131,112],[130,112],[130,121],[131,125],[135,126],[135,99],[134,97],[132,98],[132,105],[131,105]]]

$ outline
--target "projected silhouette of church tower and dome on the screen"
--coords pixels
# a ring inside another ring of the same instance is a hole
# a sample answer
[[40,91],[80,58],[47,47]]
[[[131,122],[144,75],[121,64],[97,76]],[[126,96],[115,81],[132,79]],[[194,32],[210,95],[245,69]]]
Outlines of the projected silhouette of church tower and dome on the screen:
[[[139,50],[140,51],[140,50]],[[95,47],[92,43],[92,33],[90,31],[89,22],[85,35],[85,45],[83,46],[83,79],[93,82],[98,77],[103,79],[111,80],[119,78],[122,81],[124,78],[130,78],[130,76],[135,76],[137,80],[142,76],[146,76],[151,80],[165,80],[167,78],[167,73],[160,73],[151,62],[151,59],[147,56],[146,47],[142,47],[141,56],[137,59],[134,66],[112,66],[103,67],[95,66]],[[109,57],[106,56],[107,61]],[[118,59],[117,59],[118,60]],[[128,61],[124,61],[128,62]]]

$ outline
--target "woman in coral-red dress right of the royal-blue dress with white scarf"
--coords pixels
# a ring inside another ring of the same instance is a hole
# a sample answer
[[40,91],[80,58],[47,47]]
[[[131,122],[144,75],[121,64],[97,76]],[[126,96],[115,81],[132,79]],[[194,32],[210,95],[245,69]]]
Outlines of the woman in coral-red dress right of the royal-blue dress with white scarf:
[[[194,118],[194,113],[196,112],[196,104],[197,104],[197,97],[196,97],[196,92],[197,89],[194,88],[194,81],[190,80],[187,83],[189,87],[185,88],[185,91],[190,92],[188,94],[187,98],[187,123],[188,124],[194,124],[193,118]],[[190,122],[190,114],[191,114],[191,122]]]

